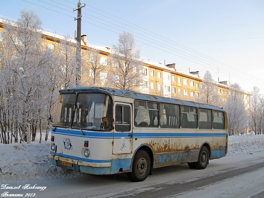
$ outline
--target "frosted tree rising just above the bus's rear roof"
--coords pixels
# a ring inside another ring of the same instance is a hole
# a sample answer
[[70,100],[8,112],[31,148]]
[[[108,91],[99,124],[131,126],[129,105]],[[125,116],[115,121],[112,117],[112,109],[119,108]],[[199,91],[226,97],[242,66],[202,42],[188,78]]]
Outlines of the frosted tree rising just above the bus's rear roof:
[[211,73],[206,70],[204,74],[204,80],[202,82],[202,88],[200,88],[200,97],[198,100],[208,105],[217,105],[220,101],[220,96],[216,92],[215,81]]

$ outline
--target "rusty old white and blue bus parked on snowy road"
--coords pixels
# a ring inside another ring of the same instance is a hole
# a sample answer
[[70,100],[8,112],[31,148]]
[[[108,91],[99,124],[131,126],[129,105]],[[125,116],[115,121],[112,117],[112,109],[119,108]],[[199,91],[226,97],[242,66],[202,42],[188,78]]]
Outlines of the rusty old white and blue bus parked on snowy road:
[[49,154],[55,166],[143,181],[152,168],[204,169],[227,153],[220,107],[103,87],[59,92]]

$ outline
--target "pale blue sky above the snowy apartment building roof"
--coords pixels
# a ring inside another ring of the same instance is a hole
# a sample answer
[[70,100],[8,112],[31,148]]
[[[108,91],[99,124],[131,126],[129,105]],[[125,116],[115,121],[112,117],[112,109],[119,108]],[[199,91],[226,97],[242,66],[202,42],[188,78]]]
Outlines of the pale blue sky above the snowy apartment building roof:
[[[33,9],[43,28],[74,36],[78,0],[2,1],[0,15],[17,19]],[[86,1],[82,34],[87,41],[112,47],[118,35],[134,35],[144,60],[177,69],[209,70],[214,79],[238,83],[247,92],[264,92],[264,1]]]

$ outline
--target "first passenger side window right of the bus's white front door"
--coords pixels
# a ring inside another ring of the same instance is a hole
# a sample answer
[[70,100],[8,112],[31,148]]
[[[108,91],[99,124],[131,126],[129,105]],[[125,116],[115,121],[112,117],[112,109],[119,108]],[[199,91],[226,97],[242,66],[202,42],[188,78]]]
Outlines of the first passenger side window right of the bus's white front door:
[[134,124],[139,127],[158,127],[158,103],[135,100]]

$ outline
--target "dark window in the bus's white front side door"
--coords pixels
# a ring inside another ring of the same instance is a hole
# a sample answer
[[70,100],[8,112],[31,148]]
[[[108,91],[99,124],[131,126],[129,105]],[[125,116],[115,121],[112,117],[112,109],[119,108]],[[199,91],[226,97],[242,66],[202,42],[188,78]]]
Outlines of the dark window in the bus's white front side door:
[[130,107],[125,105],[116,105],[115,111],[115,130],[130,131]]

